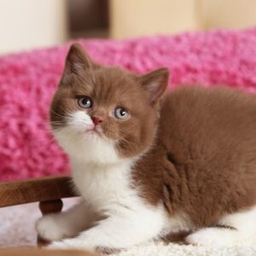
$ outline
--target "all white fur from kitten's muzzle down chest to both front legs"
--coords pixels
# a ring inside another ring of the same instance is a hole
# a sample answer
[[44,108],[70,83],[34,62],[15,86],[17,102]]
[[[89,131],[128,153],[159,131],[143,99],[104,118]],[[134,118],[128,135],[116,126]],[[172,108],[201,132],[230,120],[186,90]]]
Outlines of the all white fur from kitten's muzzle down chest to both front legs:
[[[93,124],[86,113],[71,114],[68,124],[63,131],[55,131],[55,137],[70,155],[73,181],[84,201],[68,212],[39,219],[37,229],[50,241],[84,231],[50,247],[131,247],[166,234],[166,227],[183,227],[182,218],[169,219],[161,203],[152,207],[138,195],[138,188],[131,189],[135,160],[121,159],[113,141],[90,133]],[[98,223],[85,230],[93,221]]]

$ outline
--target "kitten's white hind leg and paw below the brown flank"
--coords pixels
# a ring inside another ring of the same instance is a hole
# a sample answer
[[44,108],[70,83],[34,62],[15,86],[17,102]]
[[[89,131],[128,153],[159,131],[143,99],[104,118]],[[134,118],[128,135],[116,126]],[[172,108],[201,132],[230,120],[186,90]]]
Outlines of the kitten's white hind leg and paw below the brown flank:
[[[228,246],[256,238],[256,207],[245,212],[229,214],[218,225],[196,231],[187,236],[186,241],[196,245]],[[225,228],[226,226],[226,228]]]

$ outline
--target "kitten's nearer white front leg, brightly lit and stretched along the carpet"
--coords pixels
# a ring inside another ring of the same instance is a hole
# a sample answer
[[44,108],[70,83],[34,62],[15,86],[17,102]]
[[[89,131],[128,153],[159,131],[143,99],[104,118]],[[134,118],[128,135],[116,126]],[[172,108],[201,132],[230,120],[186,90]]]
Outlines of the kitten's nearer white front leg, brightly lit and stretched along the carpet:
[[[149,207],[148,207],[149,208]],[[103,219],[95,227],[73,239],[53,242],[49,248],[122,249],[157,237],[164,226],[163,211],[148,209],[136,212],[125,209]]]

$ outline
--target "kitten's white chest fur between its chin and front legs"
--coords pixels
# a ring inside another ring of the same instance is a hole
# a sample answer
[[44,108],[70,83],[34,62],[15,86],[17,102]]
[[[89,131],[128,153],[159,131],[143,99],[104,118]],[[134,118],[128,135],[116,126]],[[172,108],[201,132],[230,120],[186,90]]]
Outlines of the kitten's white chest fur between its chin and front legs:
[[96,165],[73,160],[73,181],[85,201],[98,209],[136,207],[140,201],[131,189],[131,161]]

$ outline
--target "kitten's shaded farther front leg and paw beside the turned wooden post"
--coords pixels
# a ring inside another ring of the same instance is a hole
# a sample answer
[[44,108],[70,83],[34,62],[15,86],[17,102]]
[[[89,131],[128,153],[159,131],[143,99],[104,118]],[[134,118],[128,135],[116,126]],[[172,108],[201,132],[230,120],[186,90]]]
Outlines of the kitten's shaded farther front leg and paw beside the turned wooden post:
[[93,213],[84,202],[70,208],[67,212],[50,213],[38,219],[38,235],[47,241],[60,240],[78,235],[93,222]]

